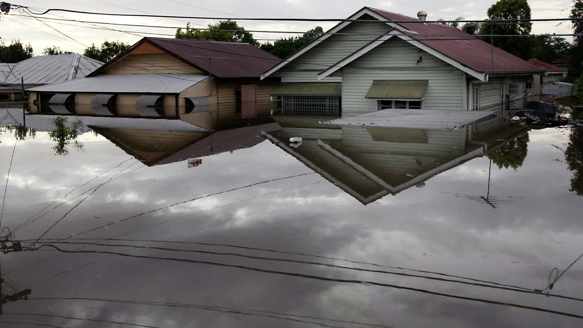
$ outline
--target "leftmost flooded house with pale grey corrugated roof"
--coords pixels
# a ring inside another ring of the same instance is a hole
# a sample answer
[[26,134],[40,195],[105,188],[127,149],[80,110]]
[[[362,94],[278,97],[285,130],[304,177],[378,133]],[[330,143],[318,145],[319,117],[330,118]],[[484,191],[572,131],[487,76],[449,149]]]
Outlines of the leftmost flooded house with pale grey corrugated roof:
[[0,63],[0,104],[26,103],[24,90],[83,78],[103,65],[80,54],[36,56]]

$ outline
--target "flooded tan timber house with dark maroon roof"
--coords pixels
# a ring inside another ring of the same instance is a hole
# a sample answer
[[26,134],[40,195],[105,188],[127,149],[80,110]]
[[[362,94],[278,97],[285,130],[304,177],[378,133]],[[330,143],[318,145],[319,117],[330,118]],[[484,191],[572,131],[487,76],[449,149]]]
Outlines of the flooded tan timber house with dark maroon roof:
[[279,58],[248,43],[145,37],[77,81],[30,90],[31,113],[180,118],[204,128],[268,116]]

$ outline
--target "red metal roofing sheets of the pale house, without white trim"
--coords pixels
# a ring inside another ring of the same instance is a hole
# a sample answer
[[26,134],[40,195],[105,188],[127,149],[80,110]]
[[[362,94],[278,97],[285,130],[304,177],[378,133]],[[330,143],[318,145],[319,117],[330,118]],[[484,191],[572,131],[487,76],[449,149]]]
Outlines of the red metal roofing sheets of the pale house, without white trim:
[[[412,17],[381,11],[380,9],[370,9],[390,20],[417,20]],[[448,34],[448,36],[416,36],[415,33],[408,33],[414,39],[475,71],[492,71],[490,44],[475,36],[455,27],[439,23],[399,23],[399,25],[419,34]],[[452,36],[459,36],[459,39],[451,40],[453,39]],[[540,70],[515,55],[494,47],[494,71],[524,72]]]

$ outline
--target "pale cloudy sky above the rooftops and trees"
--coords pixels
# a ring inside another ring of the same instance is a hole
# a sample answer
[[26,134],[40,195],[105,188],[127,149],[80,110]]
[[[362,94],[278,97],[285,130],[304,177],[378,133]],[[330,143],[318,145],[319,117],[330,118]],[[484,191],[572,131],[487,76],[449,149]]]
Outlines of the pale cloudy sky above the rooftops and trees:
[[[470,0],[471,1],[471,0]],[[29,6],[31,8],[63,8],[76,9],[80,11],[110,12],[110,13],[152,13],[157,15],[182,15],[182,16],[205,16],[205,17],[246,17],[246,18],[346,18],[363,6],[384,9],[386,11],[402,13],[403,15],[415,16],[418,11],[424,10],[429,13],[428,19],[455,19],[463,16],[465,19],[484,19],[486,11],[496,1],[461,1],[461,0],[435,0],[435,1],[413,1],[398,2],[388,0],[216,0],[211,2],[199,2],[191,0],[14,0],[13,4]],[[551,4],[552,3],[552,4]],[[570,0],[549,1],[529,1],[532,10],[532,18],[563,18],[568,16],[569,8],[572,4]],[[121,8],[123,6],[125,8]],[[10,12],[13,15],[24,15],[17,11]],[[93,22],[115,22],[155,26],[184,26],[188,20],[185,19],[150,19],[150,18],[120,18],[96,15],[78,15],[73,13],[54,12],[54,15],[62,18],[89,20]],[[59,18],[54,15],[45,15],[46,18]],[[31,18],[22,16],[4,16],[0,20],[0,37],[8,41],[20,39],[26,43],[30,42],[35,50],[35,54],[41,54],[42,49],[47,46],[58,45],[68,51],[82,51],[85,46],[91,43],[100,44],[103,40],[123,40],[128,43],[135,43],[140,39],[128,33],[114,32],[110,30],[89,29],[84,27],[62,25],[70,22],[54,21],[49,23],[54,29],[77,40],[68,39],[63,34],[59,34],[51,27],[44,25]],[[191,20],[193,26],[206,26],[212,20]],[[78,23],[73,23],[78,24]],[[302,32],[312,29],[316,23],[312,22],[241,22],[248,30],[279,30]],[[328,29],[334,23],[319,23],[324,29]],[[95,27],[95,26],[93,26]],[[108,26],[114,29],[123,29],[143,33],[175,33],[175,29],[146,28],[146,27],[117,27]],[[571,33],[570,26],[563,24],[557,26],[554,22],[540,22],[533,26],[533,33]],[[171,36],[170,35],[170,36]],[[255,33],[256,39],[276,39],[289,34],[276,33]],[[262,41],[263,42],[263,41]]]

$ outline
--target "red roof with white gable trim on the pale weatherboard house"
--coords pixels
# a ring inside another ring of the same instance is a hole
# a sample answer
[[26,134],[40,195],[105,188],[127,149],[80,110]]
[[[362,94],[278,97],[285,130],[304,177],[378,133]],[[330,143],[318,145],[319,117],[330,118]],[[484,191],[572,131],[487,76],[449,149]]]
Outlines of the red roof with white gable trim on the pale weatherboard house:
[[[384,19],[418,22],[416,18],[369,7],[364,7],[359,12],[350,16],[350,19],[358,19],[363,15],[373,16],[381,22],[384,21]],[[400,37],[401,39],[436,55],[438,58],[448,61],[450,64],[455,63],[456,67],[466,72],[472,71],[470,73],[476,77],[480,74],[489,74],[490,72],[542,71],[542,69],[529,64],[515,55],[509,54],[496,47],[491,48],[489,43],[452,26],[442,25],[440,23],[391,23],[390,21],[388,21],[387,24],[395,27],[396,30],[387,33],[387,37],[379,37],[379,39],[371,41],[368,46],[352,55],[349,55],[347,58],[363,55],[367,51],[370,51],[381,44],[383,41],[388,40],[391,37],[391,34],[393,34],[392,36]],[[333,35],[333,33],[339,32],[347,25],[349,25],[349,22],[343,22],[333,27],[327,32],[328,34],[324,33],[324,35],[312,41],[312,43],[308,44],[300,51],[297,51],[290,57],[286,58],[286,60],[266,71],[265,74],[262,75],[262,78],[265,78],[276,70],[282,68],[288,62],[293,61],[295,58],[305,53],[305,51],[310,50],[312,47],[327,39]],[[424,36],[422,34],[430,34],[430,36]],[[440,34],[440,36],[431,36],[433,34]],[[494,59],[493,64],[492,59]],[[336,64],[336,66],[340,67],[341,64]],[[318,78],[322,77],[324,76],[318,76]],[[479,77],[479,79],[483,79],[483,76],[481,78]]]

